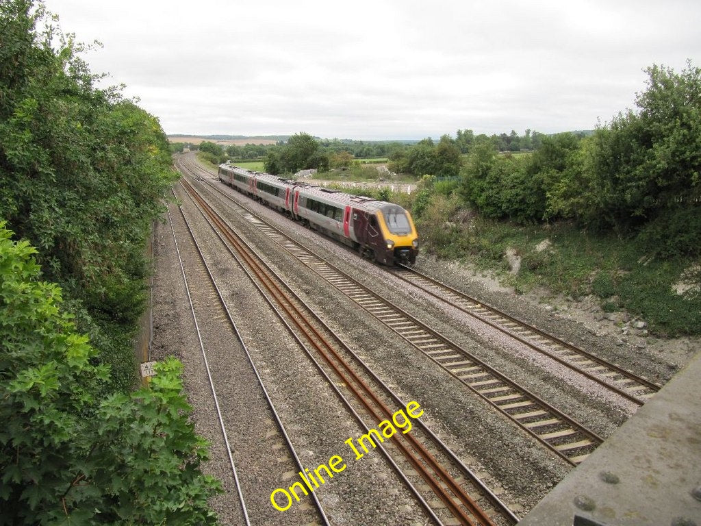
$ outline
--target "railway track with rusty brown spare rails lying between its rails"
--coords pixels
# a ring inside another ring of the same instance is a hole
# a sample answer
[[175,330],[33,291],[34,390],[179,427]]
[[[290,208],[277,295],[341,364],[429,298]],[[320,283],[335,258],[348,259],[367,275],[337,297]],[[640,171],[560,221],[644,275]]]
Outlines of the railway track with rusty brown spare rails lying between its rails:
[[[285,280],[264,263],[189,182],[183,180],[182,185],[362,427],[370,429],[377,422],[391,419],[404,405],[403,400],[285,285]],[[397,475],[435,522],[446,525],[517,522],[517,516],[427,426],[417,420],[411,433],[397,435],[378,444],[378,449],[388,455]]]

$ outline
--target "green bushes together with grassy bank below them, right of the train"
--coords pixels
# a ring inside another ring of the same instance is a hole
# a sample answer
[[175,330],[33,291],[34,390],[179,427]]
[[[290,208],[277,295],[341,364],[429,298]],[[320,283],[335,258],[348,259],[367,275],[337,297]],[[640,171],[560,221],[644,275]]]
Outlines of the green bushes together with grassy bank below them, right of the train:
[[698,334],[701,69],[646,71],[637,109],[591,133],[526,134],[533,151],[519,155],[458,133],[459,177],[392,196],[411,208],[424,250],[502,270],[515,250],[517,290],[594,294],[656,334]]

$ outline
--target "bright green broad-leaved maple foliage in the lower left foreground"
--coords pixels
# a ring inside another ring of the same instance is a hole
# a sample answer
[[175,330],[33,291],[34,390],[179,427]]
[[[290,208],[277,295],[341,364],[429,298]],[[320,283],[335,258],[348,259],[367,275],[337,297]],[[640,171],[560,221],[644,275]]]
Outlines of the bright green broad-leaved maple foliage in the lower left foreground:
[[105,397],[108,368],[11,234],[0,223],[0,524],[215,524],[182,365]]

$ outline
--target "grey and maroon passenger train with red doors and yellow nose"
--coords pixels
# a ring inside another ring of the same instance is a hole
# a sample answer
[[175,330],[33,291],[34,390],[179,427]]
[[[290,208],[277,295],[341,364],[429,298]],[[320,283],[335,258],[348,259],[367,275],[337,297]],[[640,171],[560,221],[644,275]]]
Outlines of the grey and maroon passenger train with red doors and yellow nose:
[[400,205],[230,163],[219,165],[219,180],[379,264],[416,262],[416,227],[409,211]]

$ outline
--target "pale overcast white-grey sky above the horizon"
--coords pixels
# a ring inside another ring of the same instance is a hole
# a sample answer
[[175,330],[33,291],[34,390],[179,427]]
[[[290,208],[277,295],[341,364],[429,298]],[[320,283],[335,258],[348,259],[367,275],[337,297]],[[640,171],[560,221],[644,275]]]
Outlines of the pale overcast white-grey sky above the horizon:
[[166,133],[421,139],[592,129],[701,66],[701,2],[46,0]]

